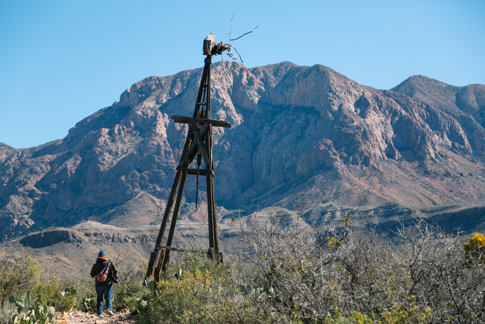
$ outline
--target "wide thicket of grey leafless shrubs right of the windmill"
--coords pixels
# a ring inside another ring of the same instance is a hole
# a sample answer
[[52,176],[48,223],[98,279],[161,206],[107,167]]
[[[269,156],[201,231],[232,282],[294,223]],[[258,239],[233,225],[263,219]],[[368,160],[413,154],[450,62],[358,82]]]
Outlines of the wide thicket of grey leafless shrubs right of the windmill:
[[416,220],[397,232],[404,243],[394,246],[344,211],[336,212],[338,224],[308,228],[305,206],[295,207],[291,221],[288,213],[239,218],[248,282],[276,310],[297,310],[308,322],[336,311],[379,317],[411,298],[433,323],[485,320],[484,265],[467,261],[460,233]]

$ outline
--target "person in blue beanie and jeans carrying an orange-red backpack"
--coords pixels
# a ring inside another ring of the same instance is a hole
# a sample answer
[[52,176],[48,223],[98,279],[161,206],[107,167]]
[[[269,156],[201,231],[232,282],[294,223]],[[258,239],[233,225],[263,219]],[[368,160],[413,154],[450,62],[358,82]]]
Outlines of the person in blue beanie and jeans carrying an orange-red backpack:
[[116,280],[116,266],[107,257],[103,250],[99,251],[96,263],[91,268],[91,276],[96,277],[95,289],[97,294],[96,299],[96,313],[101,315],[103,313],[103,296],[106,300],[106,312],[113,316],[113,282]]

